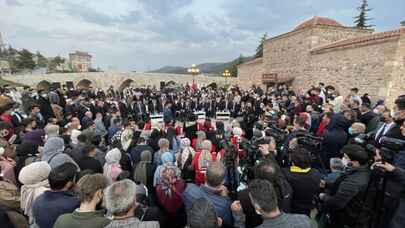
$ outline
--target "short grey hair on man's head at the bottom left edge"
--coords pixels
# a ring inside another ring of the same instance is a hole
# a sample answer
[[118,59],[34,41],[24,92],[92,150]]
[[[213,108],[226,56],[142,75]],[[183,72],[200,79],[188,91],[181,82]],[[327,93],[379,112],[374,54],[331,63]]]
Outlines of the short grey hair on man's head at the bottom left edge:
[[115,182],[104,190],[105,205],[113,215],[124,215],[135,205],[136,184],[128,179]]

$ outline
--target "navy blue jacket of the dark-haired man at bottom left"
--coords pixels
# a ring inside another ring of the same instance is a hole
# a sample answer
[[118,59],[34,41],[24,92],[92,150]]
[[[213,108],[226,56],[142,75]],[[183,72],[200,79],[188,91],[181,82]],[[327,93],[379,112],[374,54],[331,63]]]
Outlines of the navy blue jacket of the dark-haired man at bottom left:
[[60,215],[72,213],[79,206],[72,192],[46,191],[35,199],[32,212],[38,227],[52,228]]

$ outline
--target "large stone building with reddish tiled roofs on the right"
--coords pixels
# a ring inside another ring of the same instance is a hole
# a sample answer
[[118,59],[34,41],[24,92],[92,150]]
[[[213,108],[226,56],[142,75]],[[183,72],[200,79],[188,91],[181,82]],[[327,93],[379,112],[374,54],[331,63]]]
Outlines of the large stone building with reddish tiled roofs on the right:
[[295,29],[268,39],[263,57],[238,66],[239,84],[289,83],[294,89],[324,82],[343,95],[386,97],[405,93],[405,28],[375,33],[313,17]]

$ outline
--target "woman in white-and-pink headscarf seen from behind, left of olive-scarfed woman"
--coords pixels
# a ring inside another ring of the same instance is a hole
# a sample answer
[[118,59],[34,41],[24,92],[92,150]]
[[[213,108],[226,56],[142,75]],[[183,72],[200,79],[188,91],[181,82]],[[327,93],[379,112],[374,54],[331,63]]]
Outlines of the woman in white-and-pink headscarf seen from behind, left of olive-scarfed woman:
[[105,156],[103,175],[106,176],[111,182],[115,182],[117,177],[122,172],[120,160],[121,151],[118,148],[108,151]]

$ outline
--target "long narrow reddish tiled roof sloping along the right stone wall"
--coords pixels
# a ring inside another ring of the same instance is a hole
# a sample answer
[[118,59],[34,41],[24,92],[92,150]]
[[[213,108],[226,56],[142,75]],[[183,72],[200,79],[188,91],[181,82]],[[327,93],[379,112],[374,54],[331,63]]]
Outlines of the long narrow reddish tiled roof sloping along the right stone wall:
[[365,35],[365,36],[355,37],[355,38],[351,38],[351,39],[336,41],[331,44],[317,47],[317,48],[313,49],[311,52],[319,52],[319,51],[324,51],[324,50],[333,49],[333,48],[351,46],[351,45],[355,45],[355,44],[365,44],[365,43],[369,43],[369,42],[373,42],[373,41],[377,41],[377,40],[386,40],[386,39],[397,37],[397,36],[399,37],[401,34],[405,34],[405,28],[400,28],[400,29],[396,29],[396,30],[392,30],[392,31],[374,33],[371,35]]

